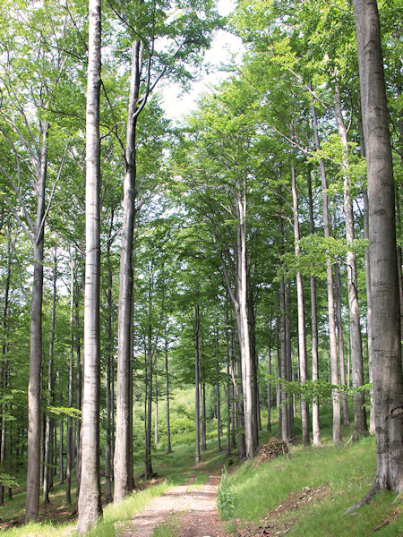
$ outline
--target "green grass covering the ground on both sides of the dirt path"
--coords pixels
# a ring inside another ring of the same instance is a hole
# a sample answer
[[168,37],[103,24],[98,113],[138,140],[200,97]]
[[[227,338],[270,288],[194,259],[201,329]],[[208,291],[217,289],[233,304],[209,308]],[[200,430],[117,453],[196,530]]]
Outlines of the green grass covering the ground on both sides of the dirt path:
[[[262,422],[263,416],[262,416]],[[357,499],[364,496],[373,482],[375,470],[374,439],[368,438],[355,445],[349,443],[347,447],[335,448],[331,446],[331,428],[326,423],[331,422],[330,413],[322,414],[322,440],[323,447],[304,450],[300,445],[294,447],[288,457],[278,459],[264,465],[253,467],[253,463],[247,462],[237,465],[231,472],[230,482],[236,495],[236,510],[233,513],[235,519],[228,522],[228,535],[236,535],[236,528],[248,524],[252,528],[259,525],[273,524],[278,531],[288,529],[288,536],[298,537],[323,536],[332,537],[365,537],[373,535],[374,526],[382,524],[388,517],[400,509],[398,516],[383,526],[376,535],[380,537],[394,537],[403,534],[401,523],[401,506],[392,505],[394,499],[390,493],[378,495],[373,502],[360,509],[354,516],[344,516],[346,507],[352,505]],[[211,423],[213,436],[214,424]],[[270,435],[275,434],[276,423]],[[350,430],[344,431],[344,441],[347,442]],[[300,431],[296,422],[296,437]],[[261,443],[267,441],[269,433],[262,431]],[[187,440],[187,437],[186,437]],[[153,454],[154,470],[159,477],[167,481],[150,487],[147,490],[135,492],[129,499],[114,507],[109,505],[104,510],[104,519],[91,537],[112,537],[119,533],[119,528],[134,514],[141,511],[151,499],[163,494],[170,486],[186,482],[191,474],[197,473],[196,482],[202,483],[207,473],[219,473],[219,469],[225,462],[224,454],[218,454],[217,444],[214,439],[208,442],[208,451],[202,454],[201,466],[195,472],[193,467],[193,445],[174,445],[174,453],[170,456],[164,454],[163,449]],[[137,461],[135,474],[141,475],[143,466]],[[137,480],[139,482],[139,480]],[[303,487],[319,488],[322,493],[312,501],[301,501],[297,509],[287,508],[284,512],[273,517],[270,511],[276,509],[279,504],[287,506],[290,498],[296,498]],[[64,488],[57,487],[51,497],[53,506],[63,506]],[[25,494],[15,494],[13,502],[6,502],[5,507],[0,507],[0,516],[3,522],[6,518],[23,514]],[[264,522],[265,516],[270,521]],[[400,518],[399,518],[400,516]],[[263,521],[263,522],[262,522]],[[116,524],[116,526],[115,526]],[[285,525],[293,524],[293,525]],[[175,535],[175,520],[171,521],[172,535]],[[168,528],[166,527],[166,530]],[[14,528],[4,533],[6,537],[46,537],[73,535],[75,522],[70,520],[64,524],[30,524],[21,528]],[[171,533],[164,533],[164,527],[159,528],[160,533],[166,537]],[[162,533],[161,533],[162,532]]]

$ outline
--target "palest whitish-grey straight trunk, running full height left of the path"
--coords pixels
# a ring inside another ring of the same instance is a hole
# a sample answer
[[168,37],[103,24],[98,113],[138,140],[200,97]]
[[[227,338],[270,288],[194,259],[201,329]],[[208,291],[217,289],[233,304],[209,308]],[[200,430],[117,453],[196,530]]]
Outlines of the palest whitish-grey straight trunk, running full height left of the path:
[[84,371],[81,422],[81,486],[78,499],[80,535],[102,514],[99,468],[99,272],[101,2],[89,2],[89,51],[86,108]]

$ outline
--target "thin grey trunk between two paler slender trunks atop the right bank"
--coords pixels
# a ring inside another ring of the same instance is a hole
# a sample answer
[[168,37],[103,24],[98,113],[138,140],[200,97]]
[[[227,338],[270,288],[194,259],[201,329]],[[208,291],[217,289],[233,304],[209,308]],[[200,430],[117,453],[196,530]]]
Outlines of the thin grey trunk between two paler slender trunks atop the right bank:
[[[315,224],[313,220],[313,194],[311,170],[308,170],[308,204],[309,204],[309,233],[314,234]],[[318,354],[318,314],[316,305],[316,278],[311,276],[311,324],[312,324],[312,379],[319,380],[319,354]],[[312,435],[313,446],[321,446],[321,429],[319,425],[319,404],[316,398],[312,403]]]

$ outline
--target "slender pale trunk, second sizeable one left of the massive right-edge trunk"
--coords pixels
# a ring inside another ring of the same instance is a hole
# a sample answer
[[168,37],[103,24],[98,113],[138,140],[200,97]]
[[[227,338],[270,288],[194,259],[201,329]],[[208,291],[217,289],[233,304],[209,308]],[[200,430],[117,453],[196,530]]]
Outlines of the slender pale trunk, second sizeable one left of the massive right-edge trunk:
[[[319,141],[318,121],[315,107],[311,107],[313,115],[313,132],[316,150],[321,150]],[[330,237],[330,218],[329,218],[329,200],[328,200],[328,182],[326,178],[326,169],[324,161],[319,161],[319,169],[322,180],[323,195],[323,227],[325,238]],[[326,259],[326,280],[328,290],[328,317],[329,317],[329,345],[330,345],[330,380],[332,384],[339,384],[338,373],[338,348],[336,340],[336,322],[334,314],[334,291],[333,291],[333,268],[330,257]],[[333,410],[333,442],[339,445],[341,442],[341,413],[340,413],[340,396],[336,389],[332,390],[331,403]]]

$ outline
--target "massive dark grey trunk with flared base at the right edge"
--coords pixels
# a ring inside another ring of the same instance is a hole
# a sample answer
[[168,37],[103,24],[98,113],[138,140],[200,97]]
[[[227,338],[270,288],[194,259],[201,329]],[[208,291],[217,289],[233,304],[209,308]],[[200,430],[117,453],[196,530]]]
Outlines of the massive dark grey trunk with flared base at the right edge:
[[353,7],[368,179],[376,430],[375,479],[359,507],[378,490],[402,490],[403,380],[395,187],[379,13],[376,0],[353,0]]

